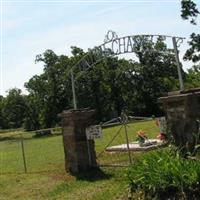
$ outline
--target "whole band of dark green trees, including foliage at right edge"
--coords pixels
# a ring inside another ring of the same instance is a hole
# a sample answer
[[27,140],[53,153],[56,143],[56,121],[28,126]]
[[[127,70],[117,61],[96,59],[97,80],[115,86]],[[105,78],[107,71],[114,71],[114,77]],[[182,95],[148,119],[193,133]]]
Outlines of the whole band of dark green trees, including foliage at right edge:
[[[181,16],[196,25],[199,14],[193,1],[182,1]],[[182,71],[186,88],[200,85],[200,35],[192,33],[190,48],[184,59],[194,63]],[[164,39],[152,42],[139,37],[135,48],[137,60],[105,57],[88,70],[74,68],[79,108],[96,109],[98,121],[119,116],[123,109],[132,115],[162,115],[157,104],[160,96],[179,89],[178,73],[172,49]],[[164,52],[164,53],[161,53]],[[71,47],[71,56],[56,55],[46,50],[36,56],[44,64],[43,73],[25,83],[28,95],[13,88],[6,97],[0,96],[0,128],[24,127],[36,130],[59,125],[58,114],[73,107],[70,70],[87,52]]]

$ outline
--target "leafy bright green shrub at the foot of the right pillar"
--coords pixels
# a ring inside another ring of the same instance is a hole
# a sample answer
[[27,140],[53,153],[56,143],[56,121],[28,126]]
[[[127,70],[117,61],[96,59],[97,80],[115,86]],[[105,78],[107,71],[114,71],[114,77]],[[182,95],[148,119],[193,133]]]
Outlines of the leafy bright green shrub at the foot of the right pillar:
[[200,199],[200,162],[166,149],[141,156],[126,175],[131,191],[145,199]]

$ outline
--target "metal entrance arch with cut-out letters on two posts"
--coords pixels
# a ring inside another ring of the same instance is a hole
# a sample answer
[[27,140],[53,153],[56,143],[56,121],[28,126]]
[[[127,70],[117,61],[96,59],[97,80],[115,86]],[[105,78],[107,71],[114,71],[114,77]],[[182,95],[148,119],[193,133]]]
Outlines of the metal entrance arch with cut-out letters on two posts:
[[[88,68],[91,68],[92,66],[100,62],[102,59],[109,56],[117,56],[125,53],[141,52],[140,50],[137,50],[135,46],[135,44],[139,42],[139,40],[141,40],[141,37],[142,38],[145,37],[152,43],[154,43],[158,38],[162,38],[163,40],[166,39],[171,40],[173,45],[173,52],[169,51],[167,52],[167,54],[173,54],[175,56],[180,90],[184,90],[184,84],[181,72],[182,67],[179,60],[178,47],[185,38],[169,36],[169,35],[129,35],[125,37],[118,37],[118,35],[115,32],[109,30],[105,36],[104,43],[89,50],[88,53],[86,53],[86,55],[84,55],[70,70],[74,109],[77,109],[77,101],[75,92],[75,77],[73,70],[76,67],[78,67],[80,70],[87,70]],[[162,51],[155,51],[155,52],[166,54],[166,52]]]

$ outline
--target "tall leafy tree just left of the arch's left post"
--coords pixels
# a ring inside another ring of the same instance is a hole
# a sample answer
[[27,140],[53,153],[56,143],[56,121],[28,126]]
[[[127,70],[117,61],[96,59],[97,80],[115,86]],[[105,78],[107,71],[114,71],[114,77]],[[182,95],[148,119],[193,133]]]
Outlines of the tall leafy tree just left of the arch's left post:
[[[59,123],[58,114],[71,105],[72,99],[68,73],[72,63],[68,57],[57,56],[52,50],[47,50],[36,56],[36,62],[44,63],[44,72],[25,83],[30,107],[29,115],[26,115],[26,129],[55,126]],[[37,112],[33,112],[34,106],[37,106]]]

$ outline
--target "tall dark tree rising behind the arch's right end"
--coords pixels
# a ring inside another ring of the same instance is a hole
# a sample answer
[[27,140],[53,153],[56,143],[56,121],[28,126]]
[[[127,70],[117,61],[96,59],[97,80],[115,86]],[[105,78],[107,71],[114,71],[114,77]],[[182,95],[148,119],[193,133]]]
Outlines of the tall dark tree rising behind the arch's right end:
[[[136,56],[139,59],[134,71],[135,113],[145,115],[161,114],[157,99],[177,87],[175,57],[169,54],[164,39],[155,43],[148,37],[135,40]],[[161,53],[163,52],[163,53]]]

